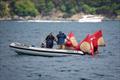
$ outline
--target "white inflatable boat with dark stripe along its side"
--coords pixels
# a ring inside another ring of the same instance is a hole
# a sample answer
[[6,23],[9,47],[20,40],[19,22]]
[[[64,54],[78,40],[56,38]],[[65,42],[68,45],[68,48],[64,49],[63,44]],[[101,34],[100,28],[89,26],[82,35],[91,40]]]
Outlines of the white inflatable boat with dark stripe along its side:
[[25,45],[18,42],[13,42],[9,45],[16,53],[35,56],[67,56],[67,55],[83,55],[82,51],[64,50],[64,49],[49,49]]

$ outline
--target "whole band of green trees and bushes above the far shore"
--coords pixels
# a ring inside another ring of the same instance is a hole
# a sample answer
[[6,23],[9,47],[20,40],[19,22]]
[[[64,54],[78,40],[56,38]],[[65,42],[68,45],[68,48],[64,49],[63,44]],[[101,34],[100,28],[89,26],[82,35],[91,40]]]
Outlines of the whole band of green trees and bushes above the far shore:
[[53,9],[68,17],[78,12],[112,16],[120,15],[119,3],[120,0],[0,0],[0,16],[44,16]]

